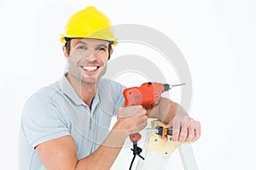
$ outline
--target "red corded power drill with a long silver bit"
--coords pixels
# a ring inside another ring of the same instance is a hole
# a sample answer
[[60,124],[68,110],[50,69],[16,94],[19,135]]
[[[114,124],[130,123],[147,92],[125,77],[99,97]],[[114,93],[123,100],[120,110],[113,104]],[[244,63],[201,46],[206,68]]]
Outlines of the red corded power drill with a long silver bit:
[[[159,82],[145,82],[142,84],[141,87],[133,87],[133,88],[125,88],[123,94],[125,97],[125,106],[129,105],[143,105],[145,109],[149,109],[154,107],[160,102],[161,94],[170,90],[173,87],[182,86],[182,84],[161,84]],[[142,149],[137,146],[137,141],[141,139],[140,133],[134,133],[130,135],[131,142],[133,143],[133,159],[136,155],[140,156],[139,154],[142,152]],[[142,156],[140,156],[144,159]],[[131,169],[131,167],[130,167]]]

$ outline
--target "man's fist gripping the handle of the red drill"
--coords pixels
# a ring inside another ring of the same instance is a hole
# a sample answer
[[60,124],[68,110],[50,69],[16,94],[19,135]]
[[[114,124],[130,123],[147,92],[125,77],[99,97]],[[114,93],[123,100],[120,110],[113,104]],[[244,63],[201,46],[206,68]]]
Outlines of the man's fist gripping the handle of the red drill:
[[119,107],[117,113],[118,121],[113,126],[113,130],[130,135],[140,132],[147,126],[147,111],[142,105]]

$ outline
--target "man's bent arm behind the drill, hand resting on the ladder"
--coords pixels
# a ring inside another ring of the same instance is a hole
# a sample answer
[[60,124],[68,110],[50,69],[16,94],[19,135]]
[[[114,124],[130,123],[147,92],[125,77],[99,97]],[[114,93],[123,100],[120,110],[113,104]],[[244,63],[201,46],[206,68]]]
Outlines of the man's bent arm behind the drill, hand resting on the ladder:
[[193,120],[182,106],[170,99],[161,98],[160,103],[148,109],[148,116],[158,118],[166,123],[166,128],[172,127],[172,140],[179,142],[195,141],[201,136],[200,122]]

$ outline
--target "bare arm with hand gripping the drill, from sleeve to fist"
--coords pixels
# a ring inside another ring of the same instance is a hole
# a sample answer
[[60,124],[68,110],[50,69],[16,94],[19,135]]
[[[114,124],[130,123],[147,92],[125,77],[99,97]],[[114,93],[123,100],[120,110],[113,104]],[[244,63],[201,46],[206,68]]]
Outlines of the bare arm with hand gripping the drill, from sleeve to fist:
[[49,169],[110,169],[119,155],[126,137],[146,126],[146,110],[142,106],[119,108],[118,121],[104,142],[90,156],[77,158],[76,144],[70,135],[38,144],[36,150]]

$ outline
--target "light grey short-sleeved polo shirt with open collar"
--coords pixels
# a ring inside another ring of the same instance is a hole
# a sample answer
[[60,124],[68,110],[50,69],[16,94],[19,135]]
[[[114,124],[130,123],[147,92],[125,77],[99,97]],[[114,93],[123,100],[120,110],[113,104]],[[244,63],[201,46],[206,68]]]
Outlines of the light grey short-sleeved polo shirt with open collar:
[[34,147],[65,135],[75,140],[79,159],[90,155],[108,135],[117,107],[124,104],[124,89],[118,82],[101,79],[91,109],[64,76],[33,94],[21,115],[20,170],[45,169]]

